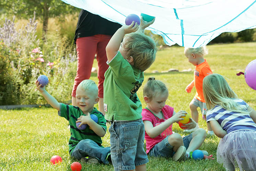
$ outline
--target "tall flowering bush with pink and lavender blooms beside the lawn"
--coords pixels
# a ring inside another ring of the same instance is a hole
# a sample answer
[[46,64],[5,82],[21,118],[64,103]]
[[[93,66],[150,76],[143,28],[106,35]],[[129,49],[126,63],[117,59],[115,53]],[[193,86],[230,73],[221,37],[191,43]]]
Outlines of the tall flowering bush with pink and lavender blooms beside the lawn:
[[70,100],[77,65],[75,51],[66,47],[67,40],[57,33],[48,35],[40,45],[35,17],[20,30],[15,29],[14,19],[5,19],[0,27],[0,105],[45,104],[35,87],[41,74],[50,80],[49,93],[60,102]]

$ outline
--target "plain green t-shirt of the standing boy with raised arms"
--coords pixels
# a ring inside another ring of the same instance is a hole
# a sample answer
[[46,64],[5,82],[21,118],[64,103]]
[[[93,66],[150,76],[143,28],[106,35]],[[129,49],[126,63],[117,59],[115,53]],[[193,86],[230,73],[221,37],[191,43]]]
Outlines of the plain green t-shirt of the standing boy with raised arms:
[[130,65],[120,52],[108,65],[103,83],[105,118],[117,121],[142,118],[142,106],[136,92],[144,80],[143,72]]

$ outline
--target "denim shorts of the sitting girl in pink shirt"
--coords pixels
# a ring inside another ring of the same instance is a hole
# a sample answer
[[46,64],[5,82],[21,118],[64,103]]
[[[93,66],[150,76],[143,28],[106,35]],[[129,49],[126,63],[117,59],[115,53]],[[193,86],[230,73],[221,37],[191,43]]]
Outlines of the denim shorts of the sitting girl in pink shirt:
[[[169,135],[170,136],[170,135]],[[183,137],[183,144],[186,149],[189,146],[190,141],[192,140],[192,133]],[[149,151],[149,156],[154,157],[173,157],[175,152],[173,151],[173,146],[171,146],[168,142],[168,136],[163,139],[161,142],[156,144],[151,150]]]

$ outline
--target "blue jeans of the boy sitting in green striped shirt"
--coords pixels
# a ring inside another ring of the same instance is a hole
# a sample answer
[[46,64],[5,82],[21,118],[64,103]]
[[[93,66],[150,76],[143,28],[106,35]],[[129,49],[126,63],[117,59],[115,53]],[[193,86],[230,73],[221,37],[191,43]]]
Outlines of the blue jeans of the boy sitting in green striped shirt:
[[77,159],[81,159],[82,157],[97,157],[103,163],[108,164],[109,162],[106,160],[107,154],[110,153],[110,147],[100,147],[97,143],[90,139],[81,140],[75,149],[73,150],[71,156]]

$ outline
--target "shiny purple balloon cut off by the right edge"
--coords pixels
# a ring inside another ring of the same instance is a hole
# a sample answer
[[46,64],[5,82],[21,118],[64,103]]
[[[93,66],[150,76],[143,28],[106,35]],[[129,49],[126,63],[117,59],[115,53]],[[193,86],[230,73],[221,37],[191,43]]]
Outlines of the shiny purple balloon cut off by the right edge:
[[245,68],[244,79],[249,87],[256,90],[256,60],[251,61]]

